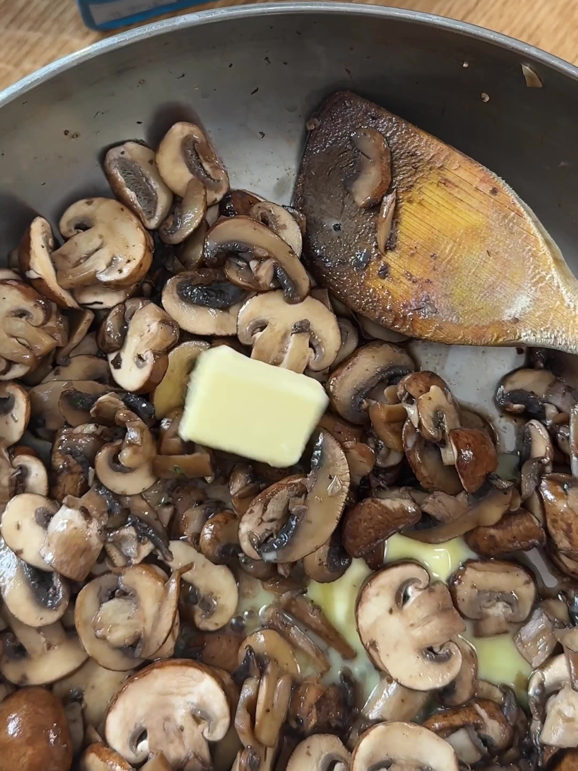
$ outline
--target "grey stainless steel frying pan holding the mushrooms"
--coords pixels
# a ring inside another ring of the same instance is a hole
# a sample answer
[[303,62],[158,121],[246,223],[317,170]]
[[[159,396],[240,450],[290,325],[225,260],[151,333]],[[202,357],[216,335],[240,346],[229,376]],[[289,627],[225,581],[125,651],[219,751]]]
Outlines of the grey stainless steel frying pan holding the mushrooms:
[[[542,88],[526,85],[523,64]],[[176,120],[203,124],[234,187],[287,203],[304,122],[342,88],[499,173],[578,269],[578,69],[461,22],[316,2],[158,22],[0,94],[0,254],[35,214],[55,223],[72,200],[109,195],[100,162],[111,144],[137,138],[155,146]],[[427,344],[415,345],[415,355],[455,396],[490,413],[497,380],[523,359],[516,349]],[[512,449],[512,427],[500,428],[502,448]]]

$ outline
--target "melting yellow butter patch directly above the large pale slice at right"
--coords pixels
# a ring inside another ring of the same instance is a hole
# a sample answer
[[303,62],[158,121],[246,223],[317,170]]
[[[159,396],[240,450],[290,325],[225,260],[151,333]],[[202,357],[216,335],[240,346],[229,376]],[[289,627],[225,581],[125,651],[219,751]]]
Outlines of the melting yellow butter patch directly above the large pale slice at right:
[[415,560],[435,581],[447,581],[463,562],[476,556],[462,537],[446,540],[443,544],[423,544],[420,540],[395,534],[385,542],[386,562]]

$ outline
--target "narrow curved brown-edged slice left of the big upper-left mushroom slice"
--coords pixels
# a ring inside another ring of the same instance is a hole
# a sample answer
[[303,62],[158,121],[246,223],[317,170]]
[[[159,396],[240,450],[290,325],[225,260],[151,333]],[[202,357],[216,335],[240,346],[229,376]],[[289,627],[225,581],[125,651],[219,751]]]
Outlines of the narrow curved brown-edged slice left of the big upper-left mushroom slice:
[[52,264],[54,237],[44,217],[35,217],[18,247],[18,264],[32,286],[61,308],[78,308],[69,291],[59,287]]

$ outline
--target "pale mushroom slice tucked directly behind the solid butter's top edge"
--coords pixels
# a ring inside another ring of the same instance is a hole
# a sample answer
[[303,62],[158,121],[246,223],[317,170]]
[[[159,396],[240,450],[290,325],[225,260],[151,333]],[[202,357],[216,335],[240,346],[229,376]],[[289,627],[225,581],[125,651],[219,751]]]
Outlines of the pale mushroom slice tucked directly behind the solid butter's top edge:
[[337,319],[323,303],[307,297],[289,305],[281,289],[245,302],[237,317],[237,335],[243,345],[253,346],[252,359],[294,372],[326,369],[341,347]]

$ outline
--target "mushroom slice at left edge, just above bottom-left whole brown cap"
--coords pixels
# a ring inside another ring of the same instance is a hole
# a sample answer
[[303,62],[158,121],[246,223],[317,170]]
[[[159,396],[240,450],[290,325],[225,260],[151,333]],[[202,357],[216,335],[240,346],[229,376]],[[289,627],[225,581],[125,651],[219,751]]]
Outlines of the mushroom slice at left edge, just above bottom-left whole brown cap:
[[75,633],[59,622],[32,628],[2,611],[11,632],[3,635],[0,673],[15,685],[48,685],[82,666],[88,653]]

